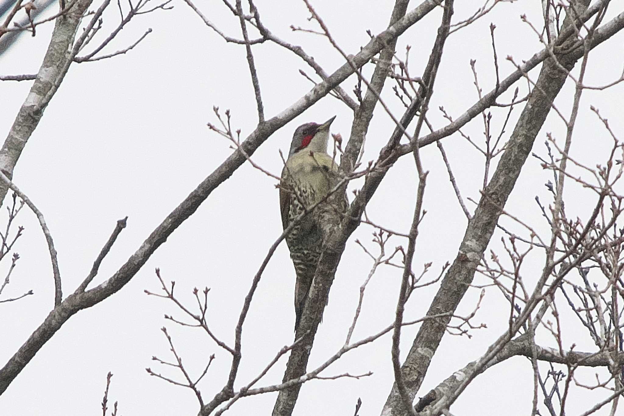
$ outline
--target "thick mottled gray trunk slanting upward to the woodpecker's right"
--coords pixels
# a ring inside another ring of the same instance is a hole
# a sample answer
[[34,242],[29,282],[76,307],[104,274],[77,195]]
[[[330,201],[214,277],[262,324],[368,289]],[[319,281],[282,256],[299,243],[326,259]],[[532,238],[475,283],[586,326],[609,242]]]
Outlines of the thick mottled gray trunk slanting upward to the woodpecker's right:
[[[581,11],[587,9],[588,1]],[[564,27],[572,22],[567,17]],[[573,39],[570,39],[573,41]],[[570,70],[578,57],[570,54],[558,54],[557,59],[563,67]],[[514,132],[505,146],[492,180],[485,188],[477,205],[474,216],[469,220],[466,234],[459,246],[457,257],[447,271],[434,300],[429,306],[427,315],[447,312],[454,314],[457,305],[466,294],[474,273],[479,265],[492,233],[500,216],[499,207],[504,207],[507,198],[514,189],[527,157],[533,146],[535,137],[550,112],[552,103],[563,87],[567,73],[557,63],[548,58],[542,65],[539,78],[520,114]],[[416,335],[416,339],[401,367],[404,383],[411,399],[421,387],[431,359],[446,332],[451,317],[440,317],[424,321]],[[409,411],[399,395],[396,384],[386,400],[382,415],[406,415]]]

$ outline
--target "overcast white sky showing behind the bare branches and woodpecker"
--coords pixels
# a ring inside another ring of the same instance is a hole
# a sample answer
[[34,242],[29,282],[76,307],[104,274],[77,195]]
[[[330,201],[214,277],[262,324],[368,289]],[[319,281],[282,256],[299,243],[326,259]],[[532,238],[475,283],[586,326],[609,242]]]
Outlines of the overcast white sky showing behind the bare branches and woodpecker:
[[[155,1],[155,0],[152,0]],[[209,4],[208,4],[209,3]],[[617,2],[614,2],[615,9]],[[386,28],[392,1],[321,1],[313,2],[336,41],[347,53],[355,54],[368,42],[366,29],[378,33]],[[412,2],[410,9],[417,3]],[[46,216],[54,236],[61,267],[64,294],[74,291],[89,273],[92,262],[112,232],[115,221],[129,216],[128,226],[105,259],[95,279],[99,284],[139,248],[149,233],[231,152],[230,143],[208,131],[207,122],[217,120],[213,105],[231,109],[232,123],[241,129],[241,137],[253,130],[257,122],[253,89],[242,46],[226,44],[206,27],[183,2],[175,0],[170,11],[137,16],[120,32],[104,52],[132,44],[148,27],[154,31],[134,50],[124,56],[99,62],[73,64],[61,88],[47,107],[39,127],[29,140],[17,164],[14,181]],[[94,3],[95,7],[99,3]],[[240,37],[238,19],[234,19],[221,2],[197,2],[197,6],[230,36]],[[305,4],[297,1],[260,1],[257,6],[266,26],[280,37],[300,44],[331,73],[342,64],[341,56],[323,37],[291,32],[291,24],[316,29],[309,22]],[[480,2],[457,1],[454,21],[475,12]],[[124,5],[125,7],[125,5]],[[612,10],[607,16],[616,12]],[[540,50],[537,37],[520,14],[541,27],[538,1],[500,4],[488,16],[467,29],[453,34],[437,77],[429,116],[435,127],[444,119],[437,108],[444,105],[449,115],[459,116],[477,100],[469,60],[477,60],[477,70],[484,92],[494,86],[489,24],[496,26],[496,44],[500,74],[506,76],[516,62],[529,59]],[[436,36],[441,11],[432,12],[412,27],[399,40],[397,53],[410,52],[411,74],[421,75],[432,41]],[[606,19],[605,19],[606,20]],[[119,21],[117,6],[104,14],[107,36]],[[37,28],[37,36],[23,36],[11,51],[0,56],[0,74],[35,73],[41,64],[52,30],[52,24]],[[622,34],[592,52],[592,66],[587,83],[606,84],[622,72]],[[97,42],[94,41],[94,44]],[[92,48],[92,47],[91,47]],[[87,47],[90,51],[90,47]],[[291,105],[310,89],[310,82],[298,70],[309,75],[314,71],[291,52],[262,44],[253,47],[258,76],[263,92],[266,117],[272,117]],[[372,67],[368,68],[368,73]],[[531,76],[537,79],[537,71]],[[351,77],[343,87],[353,90]],[[520,97],[527,83],[519,82]],[[393,99],[388,81],[386,101],[397,115],[401,104]],[[0,132],[8,132],[31,82],[0,84]],[[582,112],[577,122],[572,155],[589,166],[603,162],[612,146],[589,105],[600,108],[610,120],[614,132],[624,132],[622,85],[602,92],[585,92]],[[556,104],[567,117],[573,90],[567,85]],[[509,101],[512,91],[501,101]],[[507,133],[521,110],[514,110]],[[273,173],[281,170],[278,149],[288,150],[293,130],[301,123],[322,122],[337,115],[332,132],[349,135],[351,112],[338,100],[327,97],[293,122],[276,132],[253,158]],[[496,110],[492,121],[499,132],[505,110]],[[393,124],[378,109],[366,141],[364,160],[372,160],[386,143]],[[563,140],[563,123],[552,112],[535,140],[534,152],[545,155],[546,132]],[[464,132],[482,142],[480,117]],[[624,135],[620,135],[624,137]],[[483,160],[474,148],[456,134],[444,140],[454,173],[464,198],[479,199]],[[422,151],[424,168],[430,171],[425,208],[414,258],[414,269],[433,262],[433,278],[446,261],[452,261],[466,227],[446,169],[437,149]],[[530,159],[512,193],[507,208],[544,233],[547,226],[534,196],[549,202],[543,184],[551,178],[539,162]],[[570,196],[568,216],[587,215],[593,196],[580,188],[567,190]],[[358,186],[354,183],[352,188]],[[416,197],[416,170],[412,158],[403,158],[384,179],[368,208],[372,220],[402,232],[409,230]],[[474,205],[467,202],[469,208]],[[6,205],[6,203],[5,203]],[[2,208],[4,210],[4,208]],[[0,223],[4,223],[4,213]],[[509,220],[504,220],[510,224]],[[21,255],[11,276],[11,284],[2,296],[34,290],[17,302],[0,304],[0,360],[2,365],[21,346],[47,316],[54,303],[52,272],[47,247],[36,217],[24,208],[17,223],[26,227],[16,243]],[[513,226],[512,226],[513,227]],[[515,228],[520,232],[521,228]],[[354,243],[359,238],[376,253],[371,243],[373,228],[361,226],[349,241],[336,280],[329,296],[329,306],[316,336],[308,368],[324,362],[344,342],[358,301],[359,286],[366,278],[371,262]],[[163,368],[152,356],[172,360],[168,344],[160,332],[166,326],[178,354],[194,374],[200,374],[210,354],[216,359],[200,385],[205,401],[222,388],[230,367],[230,356],[219,349],[203,332],[182,328],[163,319],[163,314],[182,317],[179,309],[164,299],[149,297],[144,289],[158,291],[154,268],[159,267],[165,281],[176,281],[177,295],[193,306],[192,289],[211,288],[209,296],[210,326],[215,334],[232,344],[234,326],[243,297],[266,251],[281,234],[278,193],[275,180],[245,164],[213,191],[208,200],[188,221],[163,244],[144,268],[119,293],[95,307],[79,312],[42,347],[0,398],[0,415],[87,415],[99,414],[107,372],[114,377],[110,387],[110,404],[119,400],[120,414],[189,415],[197,414],[198,404],[191,390],[175,387],[145,372],[151,367],[177,380],[180,374]],[[546,234],[544,234],[546,235]],[[492,239],[499,247],[500,235]],[[401,238],[388,244],[406,246]],[[534,283],[543,258],[539,253],[529,257],[524,278]],[[9,261],[0,271],[9,266]],[[4,276],[4,272],[0,276]],[[288,249],[281,244],[271,259],[258,292],[251,304],[243,331],[243,361],[238,386],[253,379],[284,345],[293,341],[294,269]],[[380,268],[366,290],[362,316],[354,339],[366,337],[392,322],[400,274],[393,268]],[[485,283],[485,279],[475,279]],[[437,285],[414,294],[407,304],[406,320],[421,317],[427,310]],[[474,307],[479,289],[471,289],[459,313]],[[563,312],[569,313],[568,311]],[[495,289],[487,291],[475,323],[484,322],[487,329],[472,331],[472,339],[445,336],[427,373],[418,396],[449,377],[470,360],[477,359],[490,342],[507,326],[509,310]],[[570,326],[571,329],[577,328]],[[417,327],[402,332],[401,351],[409,351]],[[577,342],[577,349],[591,351],[592,346],[577,341],[578,332],[564,332],[565,346]],[[545,344],[552,339],[543,337]],[[324,375],[343,372],[371,377],[360,380],[314,380],[301,389],[296,415],[353,414],[358,397],[363,400],[361,416],[378,415],[392,385],[390,360],[391,337],[349,352]],[[286,357],[258,383],[281,381]],[[592,380],[595,370],[583,371]],[[480,375],[451,408],[455,415],[525,415],[531,409],[532,370],[527,359],[510,359]],[[576,389],[570,410],[581,413],[606,394],[589,394]],[[237,402],[228,412],[232,415],[269,414],[276,394],[249,397]]]

